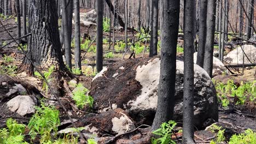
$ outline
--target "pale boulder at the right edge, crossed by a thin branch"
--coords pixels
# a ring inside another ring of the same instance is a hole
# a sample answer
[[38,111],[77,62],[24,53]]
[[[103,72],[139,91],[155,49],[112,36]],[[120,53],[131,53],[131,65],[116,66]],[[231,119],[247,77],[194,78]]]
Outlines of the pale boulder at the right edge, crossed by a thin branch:
[[[247,57],[243,55],[243,51],[245,51]],[[245,64],[250,64],[256,62],[256,47],[254,45],[243,45],[241,47],[237,47],[237,49],[232,50],[228,53],[223,59],[225,63],[228,64],[243,64],[243,57]],[[250,62],[251,61],[251,62]]]

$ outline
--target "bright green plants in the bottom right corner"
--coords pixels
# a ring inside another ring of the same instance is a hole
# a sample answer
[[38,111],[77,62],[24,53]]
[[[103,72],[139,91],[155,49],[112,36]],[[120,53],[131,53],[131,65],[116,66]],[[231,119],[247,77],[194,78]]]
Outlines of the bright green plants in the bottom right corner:
[[251,144],[256,143],[256,133],[252,129],[247,129],[245,133],[232,135],[229,144]]

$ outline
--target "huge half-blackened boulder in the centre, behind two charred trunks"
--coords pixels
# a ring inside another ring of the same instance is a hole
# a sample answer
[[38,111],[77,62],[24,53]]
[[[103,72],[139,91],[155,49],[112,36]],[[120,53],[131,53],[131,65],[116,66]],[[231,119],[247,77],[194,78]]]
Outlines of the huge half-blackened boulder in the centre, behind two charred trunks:
[[[182,122],[183,67],[177,60],[176,104],[174,120]],[[202,127],[208,119],[218,121],[216,90],[211,77],[194,65],[194,124]],[[152,124],[157,100],[160,75],[160,58],[127,59],[114,63],[98,73],[91,83],[90,94],[99,112],[117,107],[126,110],[136,124]]]

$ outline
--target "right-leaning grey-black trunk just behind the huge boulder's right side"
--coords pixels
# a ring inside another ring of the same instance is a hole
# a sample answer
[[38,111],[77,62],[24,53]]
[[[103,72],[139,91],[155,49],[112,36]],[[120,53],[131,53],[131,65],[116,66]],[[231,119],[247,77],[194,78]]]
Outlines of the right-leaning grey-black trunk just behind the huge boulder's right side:
[[216,14],[216,0],[208,0],[207,7],[207,34],[205,44],[205,59],[203,69],[206,70],[208,75],[212,77],[213,68],[213,44],[215,32],[215,14]]

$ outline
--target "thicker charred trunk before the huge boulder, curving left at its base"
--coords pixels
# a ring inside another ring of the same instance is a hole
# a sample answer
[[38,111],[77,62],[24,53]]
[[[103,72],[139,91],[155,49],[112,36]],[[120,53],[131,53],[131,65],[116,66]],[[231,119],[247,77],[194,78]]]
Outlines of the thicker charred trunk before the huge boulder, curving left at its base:
[[158,106],[152,130],[173,116],[176,79],[176,49],[179,29],[179,0],[163,0],[161,32],[161,65],[158,89]]

